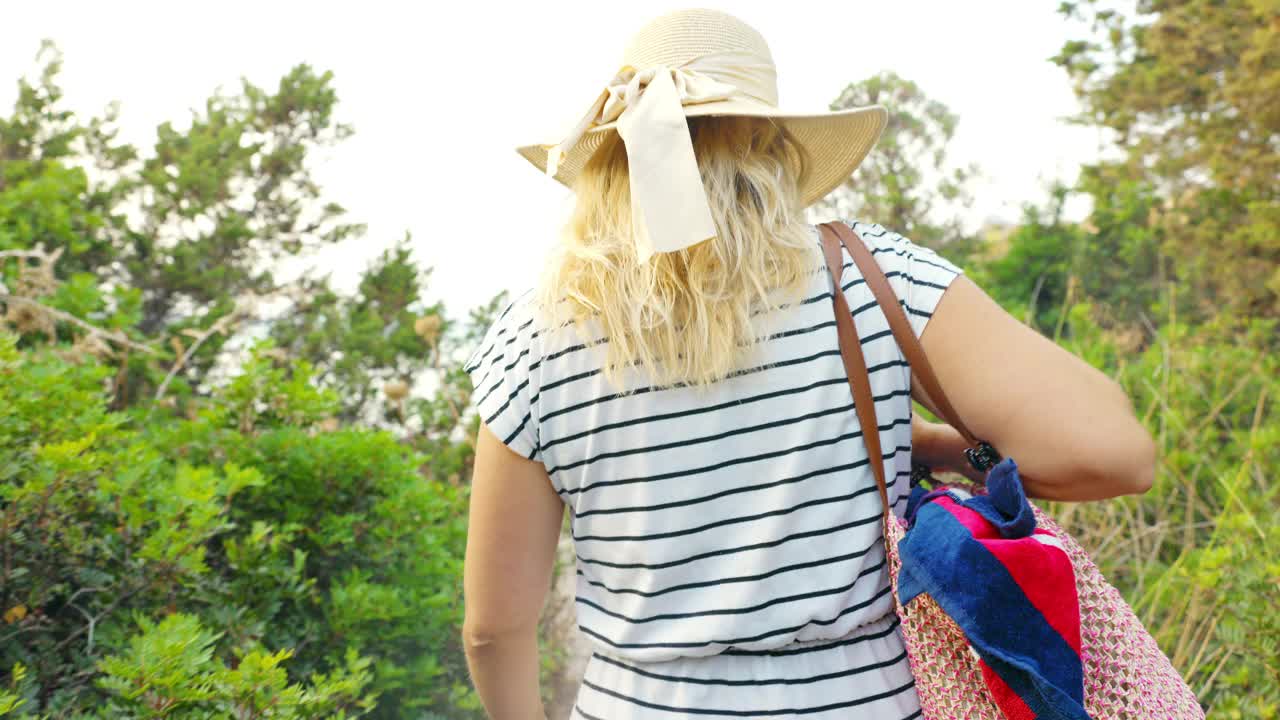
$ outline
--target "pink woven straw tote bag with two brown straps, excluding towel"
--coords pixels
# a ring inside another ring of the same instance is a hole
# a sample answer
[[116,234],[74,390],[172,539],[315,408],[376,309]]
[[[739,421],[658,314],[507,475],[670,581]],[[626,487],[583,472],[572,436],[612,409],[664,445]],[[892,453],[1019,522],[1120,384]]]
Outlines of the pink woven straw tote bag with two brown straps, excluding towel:
[[[835,288],[840,288],[844,265],[841,246],[854,259],[888,318],[895,340],[911,366],[923,391],[937,405],[943,419],[956,428],[973,450],[966,451],[977,466],[989,466],[995,451],[978,441],[960,421],[938,384],[924,348],[908,323],[892,287],[861,238],[844,223],[820,225],[827,269]],[[840,351],[849,374],[858,420],[870,457],[881,454],[872,401],[870,380],[863,357],[858,331],[842,292],[835,292],[836,327]],[[989,454],[984,457],[986,454]],[[888,509],[888,491],[883,464],[872,462],[876,483],[884,503],[884,550],[890,565],[893,602],[901,620],[915,688],[920,696],[922,717],[925,720],[1006,720],[983,682],[975,653],[964,633],[928,594],[919,594],[902,605],[899,594],[901,557],[899,542],[905,537],[906,521]],[[982,492],[980,488],[970,488]],[[1055,533],[1071,560],[1080,605],[1080,641],[1084,669],[1084,708],[1093,720],[1190,720],[1204,712],[1194,693],[1160,651],[1155,638],[1143,628],[1133,609],[1098,570],[1097,565],[1066,532],[1041,509],[1034,507],[1038,527]]]

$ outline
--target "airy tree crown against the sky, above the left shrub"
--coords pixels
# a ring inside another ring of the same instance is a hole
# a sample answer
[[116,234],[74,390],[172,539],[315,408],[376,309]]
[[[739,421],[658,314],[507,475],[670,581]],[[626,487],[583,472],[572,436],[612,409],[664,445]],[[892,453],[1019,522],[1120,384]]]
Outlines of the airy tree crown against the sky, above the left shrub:
[[243,81],[214,95],[191,127],[164,123],[136,178],[141,222],[116,247],[143,288],[140,329],[180,319],[180,304],[214,316],[246,292],[276,290],[274,261],[358,232],[340,205],[321,202],[307,158],[346,138],[334,119],[332,73],[298,65],[274,92]]

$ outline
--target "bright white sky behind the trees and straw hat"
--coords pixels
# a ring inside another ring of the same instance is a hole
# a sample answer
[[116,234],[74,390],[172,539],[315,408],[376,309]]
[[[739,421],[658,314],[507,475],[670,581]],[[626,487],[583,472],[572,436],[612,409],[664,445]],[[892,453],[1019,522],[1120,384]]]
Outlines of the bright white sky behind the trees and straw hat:
[[[306,61],[335,73],[356,136],[320,159],[329,197],[369,224],[317,258],[340,287],[413,236],[430,293],[456,313],[531,284],[570,195],[515,146],[561,140],[617,70],[622,47],[667,3],[65,1],[0,14],[0,111],[40,40],[65,54],[72,109],[122,102],[123,137],[148,147],[211,90],[274,87]],[[710,6],[758,28],[783,108],[823,110],[849,82],[893,70],[960,115],[951,155],[975,161],[973,223],[1016,220],[1055,178],[1096,158],[1100,135],[1069,126],[1070,85],[1047,58],[1079,33],[1056,0],[741,0]],[[1078,214],[1078,213],[1073,213]],[[874,218],[869,218],[874,220]]]

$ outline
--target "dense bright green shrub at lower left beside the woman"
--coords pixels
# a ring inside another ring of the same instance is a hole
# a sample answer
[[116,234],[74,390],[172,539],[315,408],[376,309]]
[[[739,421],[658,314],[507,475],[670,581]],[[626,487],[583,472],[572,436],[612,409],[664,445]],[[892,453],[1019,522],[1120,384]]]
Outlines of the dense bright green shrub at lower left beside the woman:
[[329,429],[333,397],[269,348],[177,418],[111,413],[106,369],[0,338],[0,667],[23,667],[4,712],[475,708],[465,491],[430,457]]

